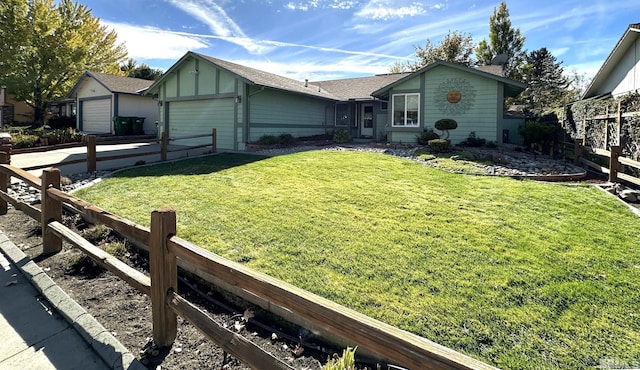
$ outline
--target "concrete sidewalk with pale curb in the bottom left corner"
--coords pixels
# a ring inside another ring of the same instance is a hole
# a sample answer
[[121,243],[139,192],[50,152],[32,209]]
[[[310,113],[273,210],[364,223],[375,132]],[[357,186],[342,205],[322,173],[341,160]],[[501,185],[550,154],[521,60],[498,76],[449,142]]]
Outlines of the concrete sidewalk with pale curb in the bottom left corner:
[[0,369],[146,369],[2,232],[0,252]]

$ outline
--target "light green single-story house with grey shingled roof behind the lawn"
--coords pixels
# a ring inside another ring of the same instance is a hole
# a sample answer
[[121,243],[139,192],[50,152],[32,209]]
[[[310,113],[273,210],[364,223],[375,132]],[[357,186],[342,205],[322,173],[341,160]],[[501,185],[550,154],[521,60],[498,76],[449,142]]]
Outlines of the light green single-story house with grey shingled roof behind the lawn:
[[215,128],[218,148],[244,150],[263,135],[338,129],[355,138],[415,143],[440,118],[458,121],[454,143],[473,131],[500,144],[504,98],[524,87],[442,61],[413,73],[301,82],[188,52],[146,94],[158,99],[159,131],[175,138]]

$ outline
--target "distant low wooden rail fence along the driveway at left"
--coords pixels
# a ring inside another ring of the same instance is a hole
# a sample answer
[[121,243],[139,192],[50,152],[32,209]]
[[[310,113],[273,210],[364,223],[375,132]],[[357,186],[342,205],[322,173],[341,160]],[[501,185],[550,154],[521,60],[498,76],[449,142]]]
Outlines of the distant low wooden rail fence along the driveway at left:
[[[172,150],[169,150],[169,143],[172,142],[172,141],[188,140],[188,139],[204,138],[204,137],[211,137],[211,142],[207,143],[207,144],[184,146],[184,147],[174,148]],[[150,156],[150,155],[160,155],[160,161],[164,162],[164,161],[167,160],[168,153],[175,153],[175,152],[180,152],[180,151],[185,151],[185,150],[193,150],[193,149],[198,149],[198,148],[211,147],[211,152],[212,153],[216,153],[217,152],[216,140],[217,140],[217,133],[216,133],[216,129],[215,128],[211,130],[210,134],[199,134],[199,135],[181,136],[181,137],[173,137],[173,138],[170,138],[169,135],[166,132],[163,132],[162,136],[160,137],[160,139],[152,139],[152,140],[142,140],[142,141],[140,141],[140,143],[160,143],[160,149],[159,150],[152,150],[152,151],[140,152],[140,153],[132,153],[132,154],[116,154],[116,155],[108,155],[108,156],[98,156],[97,138],[96,138],[96,136],[95,135],[87,135],[85,137],[85,143],[84,144],[75,144],[75,145],[67,146],[67,147],[85,146],[87,148],[87,157],[86,158],[70,159],[70,160],[57,162],[57,163],[50,163],[50,164],[41,164],[41,165],[37,165],[37,166],[25,167],[23,169],[25,171],[31,171],[31,170],[38,170],[38,169],[47,168],[47,167],[51,167],[51,166],[61,167],[61,166],[67,166],[67,165],[71,165],[71,164],[78,164],[78,163],[86,162],[87,163],[87,172],[95,172],[96,168],[97,168],[97,162],[112,161],[112,160],[134,158],[134,157],[144,157],[144,156]],[[101,143],[101,145],[116,145],[116,144],[122,144],[122,143],[123,142],[108,142],[108,143],[104,142],[104,143]],[[38,151],[41,151],[41,150],[38,150]],[[20,152],[24,153],[25,151],[20,151]],[[15,154],[15,152],[14,152],[14,154]]]

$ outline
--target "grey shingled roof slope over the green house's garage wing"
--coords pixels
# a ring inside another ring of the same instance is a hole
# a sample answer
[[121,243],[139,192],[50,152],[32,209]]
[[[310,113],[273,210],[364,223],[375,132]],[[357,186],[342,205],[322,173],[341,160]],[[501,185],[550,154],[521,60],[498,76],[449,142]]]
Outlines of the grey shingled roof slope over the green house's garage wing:
[[292,91],[305,95],[313,95],[321,98],[337,100],[336,96],[327,91],[324,86],[307,84],[291,78],[279,76],[277,74],[261,71],[255,68],[232,63],[226,60],[210,57],[207,55],[191,52],[198,57],[208,60],[209,62],[225,69],[237,76],[243,78],[247,83],[258,86],[271,87],[274,89]]

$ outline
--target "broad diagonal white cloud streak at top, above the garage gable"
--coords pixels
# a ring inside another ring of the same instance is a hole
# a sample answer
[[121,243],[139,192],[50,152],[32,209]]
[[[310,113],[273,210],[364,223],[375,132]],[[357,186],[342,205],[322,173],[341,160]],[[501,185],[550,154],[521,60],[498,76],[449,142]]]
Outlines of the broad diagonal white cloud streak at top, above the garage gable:
[[247,37],[240,27],[213,0],[168,0],[169,3],[209,26],[216,36],[242,46],[248,52],[261,54],[265,50]]

